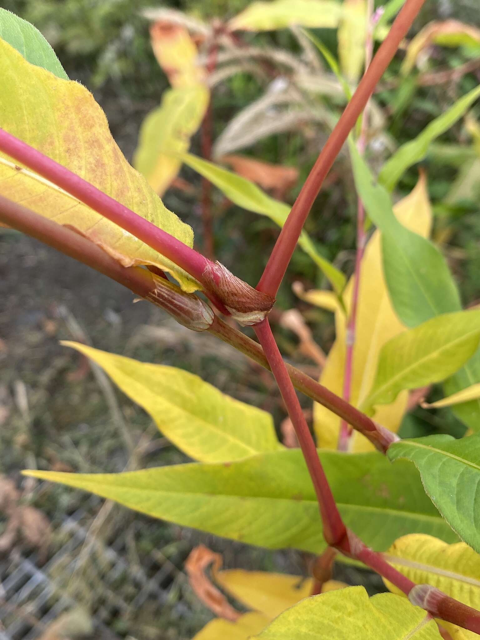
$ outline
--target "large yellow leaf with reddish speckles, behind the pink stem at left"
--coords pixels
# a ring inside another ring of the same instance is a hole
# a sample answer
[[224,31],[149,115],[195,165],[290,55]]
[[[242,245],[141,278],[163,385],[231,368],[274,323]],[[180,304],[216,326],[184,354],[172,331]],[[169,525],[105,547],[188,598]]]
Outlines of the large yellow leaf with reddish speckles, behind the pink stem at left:
[[[147,180],[127,163],[102,109],[86,88],[32,65],[4,40],[0,40],[0,76],[1,127],[192,246],[191,228],[164,207]],[[195,280],[173,262],[4,154],[0,154],[0,193],[70,225],[124,266],[153,264],[172,273],[187,291],[198,289]]]

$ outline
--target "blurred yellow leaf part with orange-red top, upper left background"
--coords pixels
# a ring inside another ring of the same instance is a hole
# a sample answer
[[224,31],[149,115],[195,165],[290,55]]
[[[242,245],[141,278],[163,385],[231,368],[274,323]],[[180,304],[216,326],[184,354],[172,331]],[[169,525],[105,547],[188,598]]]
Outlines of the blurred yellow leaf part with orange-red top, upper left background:
[[158,20],[150,27],[150,42],[172,86],[189,87],[205,81],[205,69],[198,65],[198,50],[186,28]]

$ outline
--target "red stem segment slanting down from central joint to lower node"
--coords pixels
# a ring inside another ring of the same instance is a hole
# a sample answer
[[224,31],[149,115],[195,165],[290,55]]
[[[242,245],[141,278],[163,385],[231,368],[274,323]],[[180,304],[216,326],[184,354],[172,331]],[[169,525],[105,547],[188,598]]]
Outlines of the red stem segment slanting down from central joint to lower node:
[[278,351],[278,346],[276,346],[268,318],[265,318],[259,324],[255,324],[253,328],[275,376],[276,383],[287,406],[289,417],[292,420],[303,457],[307,463],[320,508],[323,536],[329,545],[337,545],[345,538],[346,528],[337,509],[337,504],[335,504],[332,490],[317,454],[314,439],[308,429],[307,421],[301,410],[300,402],[296,396],[284,360],[280,355],[280,351]]

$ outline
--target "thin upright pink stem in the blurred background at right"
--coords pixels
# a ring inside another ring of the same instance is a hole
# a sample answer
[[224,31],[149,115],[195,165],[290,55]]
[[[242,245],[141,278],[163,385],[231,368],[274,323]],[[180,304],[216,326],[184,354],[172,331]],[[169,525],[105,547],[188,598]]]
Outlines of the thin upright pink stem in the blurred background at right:
[[[367,35],[365,38],[365,71],[369,68],[372,61],[373,54],[373,29],[374,24],[372,22],[374,3],[373,0],[367,2]],[[361,155],[365,153],[365,147],[367,146],[367,129],[369,123],[369,102],[365,105],[364,115],[362,117],[362,128],[360,130],[360,138],[358,139],[358,152]],[[356,339],[356,314],[358,310],[358,297],[360,291],[360,277],[362,275],[362,260],[364,258],[365,244],[367,243],[367,236],[365,234],[365,207],[357,198],[357,210],[356,210],[356,255],[355,255],[355,273],[353,275],[353,291],[351,295],[351,306],[348,317],[347,330],[346,330],[346,354],[345,354],[345,369],[343,378],[343,390],[342,397],[347,402],[351,397],[351,385],[353,378],[353,351],[355,348]],[[349,444],[351,442],[353,430],[345,420],[340,422],[339,430],[339,443],[337,449],[339,451],[348,451]]]

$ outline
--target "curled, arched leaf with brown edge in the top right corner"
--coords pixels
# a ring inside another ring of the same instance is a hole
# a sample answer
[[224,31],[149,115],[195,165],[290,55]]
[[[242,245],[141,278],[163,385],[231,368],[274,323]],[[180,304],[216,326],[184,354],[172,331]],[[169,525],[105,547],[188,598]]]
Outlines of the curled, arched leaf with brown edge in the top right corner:
[[443,47],[478,46],[480,44],[480,29],[458,20],[429,22],[427,26],[420,29],[408,45],[401,72],[405,75],[409,74],[419,54],[425,47],[432,44]]

